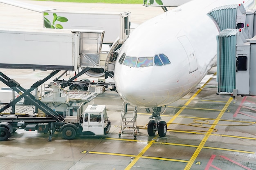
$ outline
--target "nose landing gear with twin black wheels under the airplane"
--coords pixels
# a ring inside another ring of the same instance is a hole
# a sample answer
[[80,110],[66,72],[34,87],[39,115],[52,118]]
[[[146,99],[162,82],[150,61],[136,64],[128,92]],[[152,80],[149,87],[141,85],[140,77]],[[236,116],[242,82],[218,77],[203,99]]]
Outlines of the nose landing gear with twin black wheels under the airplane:
[[160,137],[165,137],[166,132],[167,132],[167,125],[165,121],[160,121],[160,113],[161,112],[161,107],[155,107],[153,108],[153,113],[149,117],[149,119],[155,119],[155,120],[150,120],[148,122],[148,135],[149,136],[154,136],[155,131],[158,131],[158,135]]

